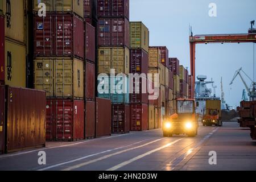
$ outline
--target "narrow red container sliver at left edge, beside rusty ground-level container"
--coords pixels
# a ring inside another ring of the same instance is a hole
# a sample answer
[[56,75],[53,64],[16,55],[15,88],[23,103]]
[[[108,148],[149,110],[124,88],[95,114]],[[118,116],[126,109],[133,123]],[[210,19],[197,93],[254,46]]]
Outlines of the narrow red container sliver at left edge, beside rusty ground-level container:
[[5,152],[5,85],[0,85],[0,154]]

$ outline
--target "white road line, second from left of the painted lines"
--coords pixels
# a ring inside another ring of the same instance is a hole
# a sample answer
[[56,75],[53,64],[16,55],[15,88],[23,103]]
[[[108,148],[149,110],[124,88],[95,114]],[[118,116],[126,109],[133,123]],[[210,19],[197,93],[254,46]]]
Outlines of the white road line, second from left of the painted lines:
[[[150,139],[152,139],[152,138],[150,138]],[[145,141],[150,140],[150,139],[141,140],[139,142],[135,142],[135,143],[132,143],[132,144],[129,144],[129,145],[126,145],[126,146],[117,147],[117,148],[113,148],[113,149],[102,151],[102,152],[97,152],[96,154],[86,155],[86,156],[83,156],[82,158],[78,158],[78,159],[74,159],[74,160],[69,160],[67,162],[63,162],[63,163],[55,164],[55,165],[52,165],[52,166],[48,166],[48,167],[45,167],[45,168],[42,168],[42,169],[38,169],[37,171],[46,171],[46,170],[51,169],[51,168],[55,168],[55,167],[58,167],[58,166],[63,166],[65,164],[77,162],[79,160],[90,158],[92,156],[96,156],[96,155],[100,155],[100,154],[105,154],[106,152],[111,152],[111,151],[119,150],[119,149],[122,149],[122,148],[125,148],[125,147],[130,147],[130,146],[133,146],[134,144],[142,143],[142,142],[145,142]]]

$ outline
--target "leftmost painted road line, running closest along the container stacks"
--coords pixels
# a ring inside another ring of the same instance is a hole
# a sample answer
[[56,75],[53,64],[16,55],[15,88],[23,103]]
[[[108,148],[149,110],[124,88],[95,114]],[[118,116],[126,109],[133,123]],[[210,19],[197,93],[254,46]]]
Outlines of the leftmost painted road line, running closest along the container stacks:
[[131,135],[133,133],[129,133],[129,134],[122,134],[122,135],[116,135],[116,136],[111,136],[111,137],[104,137],[104,138],[96,138],[96,139],[92,139],[92,140],[85,140],[85,141],[82,141],[82,142],[77,142],[77,143],[71,143],[71,144],[64,144],[62,146],[55,146],[55,147],[49,147],[49,148],[39,148],[39,149],[36,149],[36,150],[31,150],[31,151],[26,151],[26,152],[18,152],[16,154],[6,154],[6,155],[1,155],[0,156],[0,159],[1,158],[9,158],[9,157],[12,157],[12,156],[16,156],[16,155],[24,155],[24,154],[30,154],[32,152],[36,152],[36,151],[45,151],[45,150],[49,150],[49,149],[53,149],[53,148],[61,148],[61,147],[69,147],[69,146],[75,146],[77,144],[82,144],[82,143],[87,143],[87,142],[93,142],[93,141],[97,141],[97,140],[102,140],[102,139],[109,139],[109,138],[115,138],[115,137],[123,137],[125,135]]

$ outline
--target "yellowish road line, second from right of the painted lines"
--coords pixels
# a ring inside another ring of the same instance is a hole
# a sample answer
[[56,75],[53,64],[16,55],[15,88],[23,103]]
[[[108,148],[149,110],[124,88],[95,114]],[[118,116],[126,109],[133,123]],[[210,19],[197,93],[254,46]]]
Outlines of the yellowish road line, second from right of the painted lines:
[[71,170],[73,170],[73,169],[77,169],[77,168],[86,166],[86,165],[88,165],[88,164],[98,162],[98,161],[100,161],[100,160],[108,159],[108,158],[110,158],[110,157],[112,157],[112,156],[114,156],[114,155],[122,154],[122,153],[127,152],[127,151],[130,151],[130,150],[134,150],[134,149],[137,149],[137,148],[141,148],[141,147],[147,146],[147,145],[149,145],[149,144],[158,142],[159,140],[162,140],[162,139],[164,139],[164,138],[156,139],[156,140],[153,140],[153,141],[151,141],[151,142],[142,144],[141,146],[137,146],[137,147],[133,147],[133,148],[128,148],[128,149],[126,149],[126,150],[122,150],[122,151],[115,152],[115,153],[113,153],[113,154],[105,155],[105,156],[102,156],[102,157],[97,158],[97,159],[89,160],[89,161],[87,161],[87,162],[80,163],[80,164],[77,164],[77,165],[75,165],[75,166],[71,166],[71,167],[65,168],[65,169],[63,169],[62,171],[71,171]]

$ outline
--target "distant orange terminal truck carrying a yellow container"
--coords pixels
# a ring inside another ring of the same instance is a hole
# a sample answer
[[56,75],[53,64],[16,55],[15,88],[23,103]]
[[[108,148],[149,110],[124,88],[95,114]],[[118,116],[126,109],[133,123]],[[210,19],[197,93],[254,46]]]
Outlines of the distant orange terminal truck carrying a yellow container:
[[221,100],[206,100],[203,126],[222,126]]

